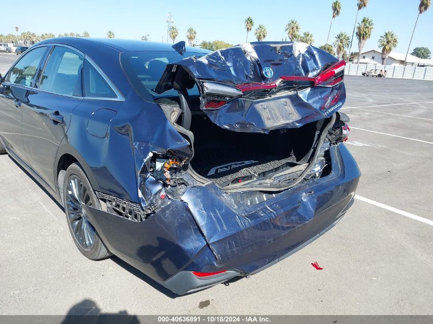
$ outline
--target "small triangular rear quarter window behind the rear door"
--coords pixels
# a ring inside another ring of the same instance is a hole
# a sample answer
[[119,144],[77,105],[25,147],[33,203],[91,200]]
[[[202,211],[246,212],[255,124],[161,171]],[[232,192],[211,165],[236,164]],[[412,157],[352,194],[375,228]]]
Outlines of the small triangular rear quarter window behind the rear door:
[[95,67],[86,60],[84,64],[84,96],[94,98],[117,98],[110,84]]

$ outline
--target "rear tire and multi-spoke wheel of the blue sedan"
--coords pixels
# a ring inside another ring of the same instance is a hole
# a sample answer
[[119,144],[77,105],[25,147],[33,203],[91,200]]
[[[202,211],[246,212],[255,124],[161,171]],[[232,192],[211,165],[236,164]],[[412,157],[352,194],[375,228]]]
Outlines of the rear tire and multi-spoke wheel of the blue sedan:
[[78,163],[71,164],[63,182],[63,202],[69,231],[78,250],[91,260],[111,255],[90,223],[81,202],[100,209],[99,201],[83,169]]

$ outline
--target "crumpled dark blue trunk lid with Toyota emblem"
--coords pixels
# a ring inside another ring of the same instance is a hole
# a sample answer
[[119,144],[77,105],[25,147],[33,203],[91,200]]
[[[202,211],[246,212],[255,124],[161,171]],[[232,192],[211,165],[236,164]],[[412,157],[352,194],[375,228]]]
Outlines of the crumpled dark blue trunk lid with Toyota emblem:
[[[244,43],[168,64],[155,92],[181,86],[178,75],[186,71],[190,80],[184,81],[185,88],[191,88],[191,79],[195,81],[201,95],[200,109],[214,123],[232,131],[268,133],[300,127],[341,108],[346,98],[342,76],[331,86],[315,86],[314,82],[336,62],[331,54],[304,43]],[[255,89],[255,84],[272,89],[260,96],[257,91],[245,91]],[[218,106],[218,102],[223,105]]]

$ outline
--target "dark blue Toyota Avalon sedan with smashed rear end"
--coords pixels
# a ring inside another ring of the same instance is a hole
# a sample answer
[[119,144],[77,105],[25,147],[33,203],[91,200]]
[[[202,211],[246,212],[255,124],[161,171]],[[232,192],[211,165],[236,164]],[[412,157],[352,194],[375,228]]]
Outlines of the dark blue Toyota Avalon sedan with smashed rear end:
[[352,205],[344,67],[299,42],[48,39],[0,79],[0,153],[64,206],[85,256],[193,292],[277,263]]

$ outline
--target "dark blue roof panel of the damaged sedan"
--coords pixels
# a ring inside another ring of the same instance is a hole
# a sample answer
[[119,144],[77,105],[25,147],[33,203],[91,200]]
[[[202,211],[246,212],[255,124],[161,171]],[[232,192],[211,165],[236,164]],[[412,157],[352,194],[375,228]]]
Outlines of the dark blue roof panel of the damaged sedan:
[[[86,47],[95,45],[105,45],[119,52],[139,52],[139,51],[175,51],[170,43],[121,39],[121,38],[77,38],[77,37],[57,37],[38,42],[37,44],[65,44],[86,51]],[[210,53],[211,51],[199,47],[185,47],[187,52]]]

